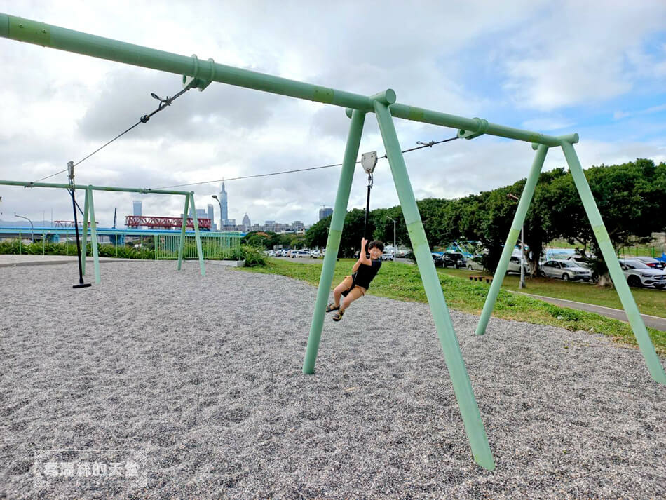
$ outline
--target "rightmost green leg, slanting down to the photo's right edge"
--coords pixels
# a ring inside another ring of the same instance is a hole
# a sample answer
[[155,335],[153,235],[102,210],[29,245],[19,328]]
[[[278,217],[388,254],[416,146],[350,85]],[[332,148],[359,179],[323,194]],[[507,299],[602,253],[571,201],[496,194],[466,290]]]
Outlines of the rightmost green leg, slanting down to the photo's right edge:
[[643,323],[643,318],[641,318],[641,313],[634,301],[634,296],[629,289],[627,280],[625,279],[622,269],[620,269],[620,263],[615,255],[615,250],[613,250],[611,238],[609,237],[608,231],[606,231],[606,226],[604,226],[604,221],[602,220],[602,215],[599,213],[599,208],[597,208],[597,203],[594,202],[594,196],[592,196],[590,186],[585,179],[585,173],[583,173],[583,168],[580,166],[580,161],[578,161],[578,155],[576,155],[573,146],[566,141],[562,141],[562,151],[564,151],[566,163],[569,164],[569,171],[573,176],[573,182],[576,183],[576,189],[578,189],[578,194],[580,194],[580,200],[583,201],[583,207],[585,208],[587,219],[590,219],[594,236],[597,236],[599,249],[602,251],[606,266],[609,268],[613,284],[615,285],[616,290],[618,290],[620,302],[622,302],[625,313],[627,313],[629,324],[634,331],[634,336],[636,337],[641,353],[643,353],[643,357],[645,358],[648,371],[655,381],[660,384],[666,384],[666,374],[664,373],[664,369],[657,353],[655,353],[654,345],[645,328],[645,323]]

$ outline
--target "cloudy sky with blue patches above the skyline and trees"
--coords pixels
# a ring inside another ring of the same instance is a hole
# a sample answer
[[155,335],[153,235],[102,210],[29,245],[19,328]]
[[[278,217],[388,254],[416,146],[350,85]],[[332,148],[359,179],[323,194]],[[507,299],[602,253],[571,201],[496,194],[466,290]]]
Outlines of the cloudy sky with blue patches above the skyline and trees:
[[[666,2],[8,1],[0,12],[226,65],[550,135],[577,132],[583,167],[666,161]],[[173,95],[179,76],[0,39],[0,179],[37,180],[81,160]],[[77,167],[80,184],[167,187],[341,161],[344,109],[213,83],[192,90]],[[403,149],[454,130],[396,119]],[[360,152],[383,145],[374,116]],[[457,140],[405,156],[416,198],[456,198],[526,177],[529,144]],[[546,169],[564,166],[552,149]],[[339,168],[231,180],[229,217],[316,222]],[[66,174],[52,177],[67,182]],[[219,182],[197,184],[197,208]],[[0,219],[72,219],[66,191],[0,187]],[[175,196],[95,195],[97,221],[178,216]],[[371,208],[397,204],[379,161]],[[355,176],[349,208],[365,205]]]

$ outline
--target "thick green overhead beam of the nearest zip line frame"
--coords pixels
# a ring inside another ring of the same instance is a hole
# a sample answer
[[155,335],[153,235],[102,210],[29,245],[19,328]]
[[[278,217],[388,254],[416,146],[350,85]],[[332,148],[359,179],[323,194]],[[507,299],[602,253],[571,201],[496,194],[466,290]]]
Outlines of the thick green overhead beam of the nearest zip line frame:
[[[72,29],[3,13],[0,13],[0,37],[90,55],[94,58],[123,62],[128,65],[158,69],[159,71],[183,76],[193,76],[205,83],[217,81],[238,87],[296,97],[297,99],[358,109],[362,112],[374,112],[373,99],[366,95],[253,72],[249,69],[221,65],[212,59],[199,60],[196,57],[107,39],[102,36],[77,32]],[[496,123],[489,123],[487,120],[480,118],[464,118],[405,104],[393,104],[389,109],[391,114],[397,118],[456,128],[458,129],[458,135],[467,139],[487,134],[535,144],[545,144],[548,147],[559,146],[562,141],[562,137],[505,127]],[[576,137],[576,140],[571,142],[578,142],[578,138]]]

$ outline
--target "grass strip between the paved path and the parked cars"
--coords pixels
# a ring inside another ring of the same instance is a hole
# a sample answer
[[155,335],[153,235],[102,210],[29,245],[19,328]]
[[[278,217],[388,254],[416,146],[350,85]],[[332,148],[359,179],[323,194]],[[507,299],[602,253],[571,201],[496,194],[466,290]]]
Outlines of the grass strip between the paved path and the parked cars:
[[[480,273],[480,271],[468,271],[466,269],[447,268],[441,271],[448,276],[458,278],[468,278],[469,276],[478,276],[480,274],[483,274],[487,278],[492,278],[490,274]],[[623,309],[618,293],[610,288],[601,288],[585,282],[566,282],[550,278],[526,278],[525,288],[520,289],[518,288],[519,282],[519,274],[510,274],[505,276],[502,288],[534,295],[543,295],[544,297],[552,297],[554,299],[574,300],[576,302],[585,302],[585,304]],[[638,309],[642,314],[666,318],[666,292],[647,288],[632,288],[631,290]]]

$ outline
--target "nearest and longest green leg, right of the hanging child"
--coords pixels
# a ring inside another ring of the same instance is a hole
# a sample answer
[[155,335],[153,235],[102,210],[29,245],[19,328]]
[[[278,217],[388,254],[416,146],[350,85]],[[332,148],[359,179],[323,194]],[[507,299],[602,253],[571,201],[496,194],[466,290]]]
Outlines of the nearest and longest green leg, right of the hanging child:
[[414,255],[416,256],[416,263],[419,265],[423,288],[426,290],[430,311],[433,313],[437,335],[440,338],[444,360],[447,363],[451,382],[454,386],[456,399],[465,424],[465,431],[467,431],[476,463],[492,471],[495,468],[495,461],[490,451],[472,384],[465,368],[463,354],[460,351],[458,339],[456,339],[456,332],[451,322],[447,302],[444,300],[442,285],[435,270],[433,257],[430,254],[426,231],[423,229],[419,208],[416,205],[416,198],[414,198],[414,190],[411,182],[409,182],[405,158],[402,157],[400,142],[397,139],[393,119],[388,110],[387,104],[395,102],[395,93],[389,89],[386,91],[386,96],[380,99],[374,102],[374,112],[379,122],[379,130],[388,156],[397,196],[400,199],[402,215],[405,217],[409,239],[412,241],[412,248],[414,248]]

